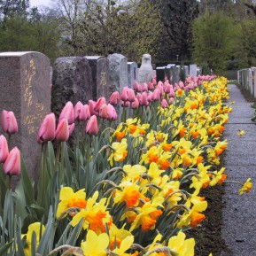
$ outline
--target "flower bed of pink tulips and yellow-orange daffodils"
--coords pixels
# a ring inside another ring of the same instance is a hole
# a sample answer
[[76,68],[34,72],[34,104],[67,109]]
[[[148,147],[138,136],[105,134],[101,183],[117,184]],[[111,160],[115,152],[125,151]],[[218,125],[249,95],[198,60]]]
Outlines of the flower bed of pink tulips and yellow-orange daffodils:
[[[0,255],[194,255],[185,233],[206,219],[200,192],[227,177],[218,167],[231,111],[222,103],[227,80],[153,79],[135,90],[113,93],[112,105],[68,103],[57,129],[54,114],[45,118],[37,197],[24,166],[15,193],[1,190]],[[240,193],[251,188],[247,180]]]

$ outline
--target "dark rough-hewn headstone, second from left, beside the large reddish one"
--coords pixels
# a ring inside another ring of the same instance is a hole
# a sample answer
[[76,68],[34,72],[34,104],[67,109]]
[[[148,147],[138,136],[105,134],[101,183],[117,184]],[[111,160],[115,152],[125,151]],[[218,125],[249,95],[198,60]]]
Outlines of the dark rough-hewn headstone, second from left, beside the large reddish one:
[[57,116],[66,102],[87,104],[92,98],[89,62],[82,57],[57,58],[53,66],[51,110]]

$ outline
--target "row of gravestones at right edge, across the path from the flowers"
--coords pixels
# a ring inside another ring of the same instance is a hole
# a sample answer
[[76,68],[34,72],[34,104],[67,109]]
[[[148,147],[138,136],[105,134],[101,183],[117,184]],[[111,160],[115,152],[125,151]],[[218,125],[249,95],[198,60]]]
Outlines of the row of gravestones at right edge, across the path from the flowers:
[[253,97],[256,97],[256,67],[238,70],[237,83],[249,90]]

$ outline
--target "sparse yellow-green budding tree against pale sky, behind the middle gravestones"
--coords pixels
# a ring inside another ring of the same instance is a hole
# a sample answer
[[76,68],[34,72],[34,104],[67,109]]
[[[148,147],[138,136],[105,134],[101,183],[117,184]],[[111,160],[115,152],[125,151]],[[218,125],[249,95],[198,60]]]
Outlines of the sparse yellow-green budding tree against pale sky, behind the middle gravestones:
[[58,0],[66,54],[120,52],[140,61],[145,52],[157,50],[160,17],[148,0],[67,2]]

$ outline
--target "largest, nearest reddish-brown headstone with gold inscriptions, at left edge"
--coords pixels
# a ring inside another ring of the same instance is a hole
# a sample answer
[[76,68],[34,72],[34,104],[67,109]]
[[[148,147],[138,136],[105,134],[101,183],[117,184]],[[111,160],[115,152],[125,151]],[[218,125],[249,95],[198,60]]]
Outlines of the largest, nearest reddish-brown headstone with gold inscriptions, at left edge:
[[19,127],[9,150],[19,148],[28,174],[38,181],[41,145],[36,137],[50,113],[50,59],[35,51],[0,53],[0,86],[0,111],[14,112]]

